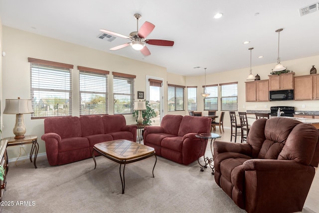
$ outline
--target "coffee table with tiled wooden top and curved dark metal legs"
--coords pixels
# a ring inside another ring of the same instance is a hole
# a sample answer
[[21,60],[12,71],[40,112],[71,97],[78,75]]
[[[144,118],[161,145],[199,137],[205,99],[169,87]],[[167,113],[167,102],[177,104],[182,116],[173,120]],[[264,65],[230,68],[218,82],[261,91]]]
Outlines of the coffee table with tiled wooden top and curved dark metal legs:
[[[95,163],[96,168],[96,160],[94,156],[94,151],[100,153],[102,156],[120,164],[120,177],[122,183],[122,194],[124,194],[125,190],[125,165],[144,160],[151,156],[155,156],[155,164],[153,167],[153,178],[154,178],[154,168],[157,162],[157,157],[155,154],[155,150],[152,147],[145,146],[143,144],[138,144],[133,141],[128,140],[115,140],[115,141],[107,141],[95,144],[93,146],[92,157]],[[123,167],[123,179],[121,167]]]

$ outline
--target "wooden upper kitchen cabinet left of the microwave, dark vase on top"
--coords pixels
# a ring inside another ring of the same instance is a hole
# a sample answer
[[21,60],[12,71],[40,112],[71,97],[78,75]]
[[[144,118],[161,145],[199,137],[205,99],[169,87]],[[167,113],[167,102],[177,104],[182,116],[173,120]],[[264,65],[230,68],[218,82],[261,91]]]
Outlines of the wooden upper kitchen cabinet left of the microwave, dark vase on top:
[[269,101],[269,80],[248,81],[246,102]]

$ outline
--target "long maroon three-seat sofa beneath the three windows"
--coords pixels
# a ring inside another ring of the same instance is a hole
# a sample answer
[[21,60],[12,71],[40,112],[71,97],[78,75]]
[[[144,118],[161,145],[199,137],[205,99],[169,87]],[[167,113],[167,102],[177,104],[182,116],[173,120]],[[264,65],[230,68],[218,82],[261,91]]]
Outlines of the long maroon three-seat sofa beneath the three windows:
[[51,166],[92,157],[94,144],[126,139],[136,142],[137,126],[123,115],[87,115],[44,119],[46,156]]

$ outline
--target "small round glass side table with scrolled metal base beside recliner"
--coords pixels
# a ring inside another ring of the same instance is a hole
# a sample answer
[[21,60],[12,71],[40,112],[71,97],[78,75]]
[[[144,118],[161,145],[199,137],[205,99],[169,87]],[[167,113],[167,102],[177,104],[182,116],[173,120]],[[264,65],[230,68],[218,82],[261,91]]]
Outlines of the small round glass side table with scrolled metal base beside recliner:
[[[215,134],[215,133],[201,133],[201,134],[198,134],[198,135],[195,135],[196,138],[200,138],[200,142],[201,142],[201,147],[200,147],[200,151],[198,153],[198,164],[200,165],[200,171],[203,172],[204,171],[204,168],[207,168],[207,165],[209,165],[209,167],[211,168],[211,174],[214,175],[215,172],[214,172],[214,154],[213,154],[213,147],[212,147],[212,143],[213,143],[213,139],[214,141],[216,140],[216,138],[220,138],[221,136],[218,135],[218,134]],[[202,165],[200,162],[199,162],[199,155],[203,149],[203,145],[207,145],[207,141],[208,139],[211,139],[210,140],[210,150],[211,150],[211,155],[212,155],[212,158],[208,158],[208,157],[205,157],[205,153],[203,155],[203,158],[204,158],[204,165]]]

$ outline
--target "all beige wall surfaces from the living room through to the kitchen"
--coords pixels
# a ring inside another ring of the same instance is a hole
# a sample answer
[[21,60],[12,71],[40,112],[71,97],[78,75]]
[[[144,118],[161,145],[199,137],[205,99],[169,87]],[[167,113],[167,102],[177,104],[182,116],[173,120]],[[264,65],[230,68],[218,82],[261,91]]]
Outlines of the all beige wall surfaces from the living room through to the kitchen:
[[[1,30],[2,29],[2,30]],[[2,37],[1,37],[2,31]],[[204,76],[180,76],[172,73],[167,73],[166,68],[157,65],[144,63],[128,59],[125,57],[109,54],[106,52],[90,49],[84,46],[75,45],[72,43],[56,40],[49,37],[36,35],[33,33],[17,30],[14,28],[3,26],[0,24],[0,41],[2,42],[2,50],[6,52],[6,56],[1,56],[1,100],[8,98],[30,98],[30,83],[29,83],[29,63],[28,57],[51,60],[56,62],[73,64],[73,101],[79,102],[78,93],[78,70],[76,67],[86,66],[97,69],[104,69],[115,72],[122,72],[137,75],[136,91],[146,91],[146,76],[153,76],[163,79],[164,86],[164,114],[181,114],[187,115],[187,110],[178,112],[167,112],[167,83],[197,86],[197,111],[203,111],[203,99],[200,96],[202,85],[204,85]],[[274,57],[275,58],[275,57]],[[284,66],[293,70],[298,75],[310,73],[312,65],[318,64],[319,55],[296,60],[282,61]],[[317,63],[316,63],[317,62]],[[261,79],[268,79],[268,75],[275,67],[273,64],[262,66],[253,66],[253,74],[257,73]],[[249,74],[249,67],[227,72],[215,74],[207,74],[206,83],[219,84],[227,82],[238,82],[238,111],[246,110],[269,110],[270,106],[287,105],[295,106],[296,110],[319,110],[319,101],[274,101],[274,102],[245,102],[245,81]],[[112,94],[112,74],[109,78],[109,91]],[[186,90],[187,91],[187,90]],[[187,94],[186,94],[187,95]],[[187,97],[187,96],[186,96]],[[109,101],[110,114],[113,114],[113,100],[110,97]],[[305,105],[306,108],[302,108]],[[1,101],[1,107],[4,108],[4,103]],[[185,100],[185,109],[187,109],[187,99]],[[220,109],[219,109],[220,110]],[[2,112],[2,110],[1,110]],[[75,116],[79,115],[79,106],[73,104],[73,112]],[[207,111],[203,112],[207,114]],[[220,114],[220,111],[218,112]],[[3,137],[12,136],[12,128],[15,122],[14,115],[2,115],[3,119]],[[128,124],[135,123],[132,115],[126,115]],[[225,128],[229,128],[229,114],[226,112]],[[45,144],[40,140],[43,130],[43,119],[31,120],[30,115],[24,115],[24,122],[27,127],[26,134],[37,135],[40,150],[39,153],[45,152]],[[29,152],[29,147],[26,147],[26,152]],[[9,147],[8,157],[16,158],[19,155],[19,148]],[[26,153],[22,153],[25,156]]]

